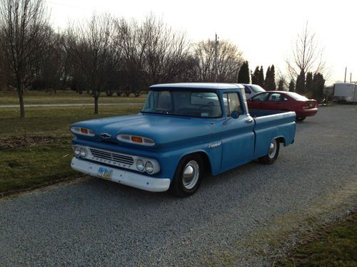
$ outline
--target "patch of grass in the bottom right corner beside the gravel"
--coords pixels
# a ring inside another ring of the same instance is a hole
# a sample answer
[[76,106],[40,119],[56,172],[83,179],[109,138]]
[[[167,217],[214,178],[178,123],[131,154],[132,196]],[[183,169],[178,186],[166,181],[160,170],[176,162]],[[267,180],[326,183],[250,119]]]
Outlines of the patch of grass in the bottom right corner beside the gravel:
[[357,213],[321,227],[274,266],[357,266]]

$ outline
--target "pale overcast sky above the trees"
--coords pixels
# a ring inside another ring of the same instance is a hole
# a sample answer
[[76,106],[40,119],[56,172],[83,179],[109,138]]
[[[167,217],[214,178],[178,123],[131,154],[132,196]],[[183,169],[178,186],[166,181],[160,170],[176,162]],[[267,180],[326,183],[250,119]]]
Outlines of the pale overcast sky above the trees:
[[[333,3],[333,4],[332,4]],[[88,19],[96,12],[143,20],[150,13],[161,17],[188,39],[233,41],[243,51],[249,67],[271,64],[286,71],[284,58],[306,21],[325,49],[331,80],[357,80],[357,1],[195,1],[195,0],[46,0],[51,23],[66,28],[69,21]]]

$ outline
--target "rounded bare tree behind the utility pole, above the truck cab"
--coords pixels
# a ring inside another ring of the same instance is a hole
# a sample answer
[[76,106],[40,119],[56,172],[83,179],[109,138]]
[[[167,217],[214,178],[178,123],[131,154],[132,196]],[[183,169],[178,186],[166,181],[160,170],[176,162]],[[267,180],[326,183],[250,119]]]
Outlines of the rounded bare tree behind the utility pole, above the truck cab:
[[[215,41],[200,41],[194,45],[193,56],[196,58],[198,81],[214,80]],[[218,82],[236,82],[238,70],[243,64],[242,52],[230,41],[220,41],[218,45]]]

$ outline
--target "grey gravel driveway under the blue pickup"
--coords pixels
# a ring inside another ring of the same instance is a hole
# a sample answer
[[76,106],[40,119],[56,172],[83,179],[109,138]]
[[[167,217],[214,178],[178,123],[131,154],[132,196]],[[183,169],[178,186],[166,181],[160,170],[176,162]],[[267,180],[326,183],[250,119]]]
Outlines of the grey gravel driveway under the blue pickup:
[[3,199],[0,266],[266,265],[241,241],[356,189],[356,151],[357,105],[334,105],[298,123],[273,165],[209,177],[186,199],[91,177]]

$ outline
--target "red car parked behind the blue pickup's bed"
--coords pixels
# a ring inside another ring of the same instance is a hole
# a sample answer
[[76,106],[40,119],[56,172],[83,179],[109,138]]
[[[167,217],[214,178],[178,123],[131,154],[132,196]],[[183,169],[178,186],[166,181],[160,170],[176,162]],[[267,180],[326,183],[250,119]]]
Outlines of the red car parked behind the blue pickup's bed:
[[266,91],[248,99],[248,108],[254,110],[295,111],[296,120],[305,120],[317,113],[317,101],[286,91]]

